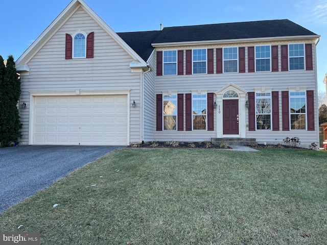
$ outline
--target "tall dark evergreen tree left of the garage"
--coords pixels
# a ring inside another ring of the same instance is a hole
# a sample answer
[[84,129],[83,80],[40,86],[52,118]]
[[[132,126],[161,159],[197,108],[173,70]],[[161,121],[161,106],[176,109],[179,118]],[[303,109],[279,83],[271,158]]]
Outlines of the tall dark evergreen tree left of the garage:
[[2,147],[10,146],[17,142],[21,136],[20,118],[17,102],[20,95],[20,79],[17,75],[14,57],[9,56],[5,68],[3,81],[1,83],[0,97],[0,142]]

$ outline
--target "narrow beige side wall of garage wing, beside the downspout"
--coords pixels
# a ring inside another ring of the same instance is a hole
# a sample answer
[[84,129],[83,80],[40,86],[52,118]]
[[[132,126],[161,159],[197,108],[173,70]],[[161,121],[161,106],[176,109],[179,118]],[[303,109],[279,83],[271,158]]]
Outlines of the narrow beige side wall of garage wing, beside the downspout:
[[144,101],[144,141],[154,140],[154,130],[155,130],[155,95],[154,95],[154,52],[149,57],[148,61],[150,67],[152,67],[150,72],[144,75],[144,91],[143,91],[143,101]]

